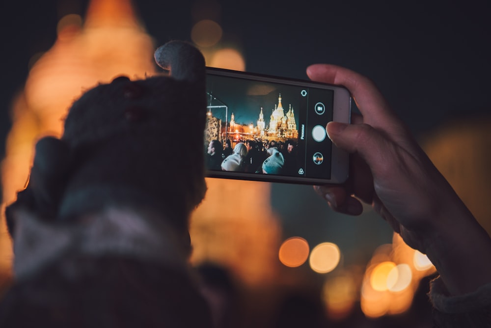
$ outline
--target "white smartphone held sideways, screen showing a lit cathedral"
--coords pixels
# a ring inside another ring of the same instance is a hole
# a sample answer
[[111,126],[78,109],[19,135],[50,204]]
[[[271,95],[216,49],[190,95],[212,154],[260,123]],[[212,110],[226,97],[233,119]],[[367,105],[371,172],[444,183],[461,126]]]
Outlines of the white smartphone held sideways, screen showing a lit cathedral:
[[206,69],[207,176],[339,184],[348,154],[327,137],[330,121],[350,123],[341,86],[218,68]]

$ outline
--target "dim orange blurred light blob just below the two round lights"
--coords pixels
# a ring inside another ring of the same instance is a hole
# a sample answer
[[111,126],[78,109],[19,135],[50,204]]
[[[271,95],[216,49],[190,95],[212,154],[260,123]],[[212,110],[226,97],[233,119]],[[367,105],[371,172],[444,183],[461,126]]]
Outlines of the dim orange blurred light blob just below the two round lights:
[[327,280],[323,287],[323,299],[327,306],[327,315],[331,319],[346,318],[355,306],[355,281],[349,274]]

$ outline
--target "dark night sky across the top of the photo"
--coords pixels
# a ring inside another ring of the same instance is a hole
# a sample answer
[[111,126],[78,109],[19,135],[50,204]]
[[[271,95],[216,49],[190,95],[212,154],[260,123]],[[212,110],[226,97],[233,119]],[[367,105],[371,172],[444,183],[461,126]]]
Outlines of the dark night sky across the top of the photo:
[[[194,3],[134,1],[156,45],[171,39],[191,40]],[[348,67],[379,86],[416,137],[431,133],[446,121],[490,113],[491,24],[487,1],[218,3],[214,14],[223,28],[222,42],[240,48],[247,71],[306,79],[305,68],[312,63]],[[51,48],[61,17],[69,13],[83,17],[86,5],[82,0],[2,1],[2,139],[10,127],[10,101],[23,88],[29,59]],[[286,108],[288,103],[283,105]],[[3,144],[0,152],[3,155]],[[301,216],[303,208],[326,211],[325,204],[309,203],[309,186],[273,187],[272,193],[273,206],[281,215]],[[281,207],[289,199],[287,193],[299,195],[293,209]],[[346,227],[339,224],[330,228],[328,234],[336,241],[336,233]],[[299,234],[307,227],[297,225],[296,229]]]

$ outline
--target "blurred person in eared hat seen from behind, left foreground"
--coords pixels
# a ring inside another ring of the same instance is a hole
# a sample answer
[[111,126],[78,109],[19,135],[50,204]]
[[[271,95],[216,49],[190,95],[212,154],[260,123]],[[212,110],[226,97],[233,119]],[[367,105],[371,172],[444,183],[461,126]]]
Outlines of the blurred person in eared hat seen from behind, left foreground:
[[[211,327],[187,262],[206,191],[204,59],[178,41],[155,59],[170,76],[87,91],[61,139],[36,144],[6,210],[16,283],[0,327]],[[184,124],[186,147],[169,156]]]

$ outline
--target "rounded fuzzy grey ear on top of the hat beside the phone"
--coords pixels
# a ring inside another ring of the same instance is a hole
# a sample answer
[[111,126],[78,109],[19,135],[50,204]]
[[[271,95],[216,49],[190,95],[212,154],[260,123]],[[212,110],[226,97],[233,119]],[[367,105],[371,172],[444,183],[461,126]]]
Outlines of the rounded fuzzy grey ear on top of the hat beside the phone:
[[157,64],[168,70],[170,76],[176,80],[205,80],[205,58],[188,42],[169,41],[155,51],[154,58]]

